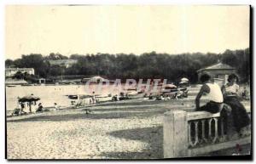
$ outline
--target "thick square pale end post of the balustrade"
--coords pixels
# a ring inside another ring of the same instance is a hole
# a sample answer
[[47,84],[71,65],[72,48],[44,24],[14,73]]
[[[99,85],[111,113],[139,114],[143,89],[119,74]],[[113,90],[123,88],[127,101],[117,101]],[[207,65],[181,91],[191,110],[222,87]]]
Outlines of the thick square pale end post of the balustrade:
[[188,122],[184,110],[170,110],[164,117],[164,158],[188,156]]

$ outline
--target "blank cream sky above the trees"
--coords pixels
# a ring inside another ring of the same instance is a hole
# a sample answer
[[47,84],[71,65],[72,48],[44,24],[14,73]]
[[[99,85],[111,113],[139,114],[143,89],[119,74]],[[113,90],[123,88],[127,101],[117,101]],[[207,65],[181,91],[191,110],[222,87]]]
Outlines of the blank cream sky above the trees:
[[5,58],[223,53],[249,47],[249,12],[246,5],[7,5]]

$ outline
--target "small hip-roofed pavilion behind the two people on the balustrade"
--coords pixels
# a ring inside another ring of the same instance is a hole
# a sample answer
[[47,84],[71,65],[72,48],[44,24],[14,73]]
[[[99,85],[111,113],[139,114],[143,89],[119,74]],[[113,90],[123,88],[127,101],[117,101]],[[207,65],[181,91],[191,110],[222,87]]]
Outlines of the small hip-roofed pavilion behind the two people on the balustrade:
[[236,69],[230,65],[218,63],[197,71],[198,79],[200,79],[201,75],[204,73],[212,76],[212,78],[215,79],[219,84],[221,83],[219,81],[223,81],[223,84],[225,84],[228,80],[228,76],[232,73],[236,73]]

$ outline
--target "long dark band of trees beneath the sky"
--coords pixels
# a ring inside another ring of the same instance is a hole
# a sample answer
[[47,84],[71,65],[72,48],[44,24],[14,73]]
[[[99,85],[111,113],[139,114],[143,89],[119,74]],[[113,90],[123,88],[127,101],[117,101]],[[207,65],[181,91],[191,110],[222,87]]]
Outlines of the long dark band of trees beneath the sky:
[[[49,59],[76,59],[71,67],[63,68],[49,65]],[[109,79],[160,78],[177,82],[181,77],[188,77],[197,82],[196,71],[218,61],[236,68],[241,82],[250,77],[249,48],[240,50],[227,49],[223,54],[158,54],[156,52],[136,54],[72,54],[69,58],[61,54],[23,54],[20,59],[6,59],[6,67],[34,68],[37,76],[81,75],[107,76]]]

